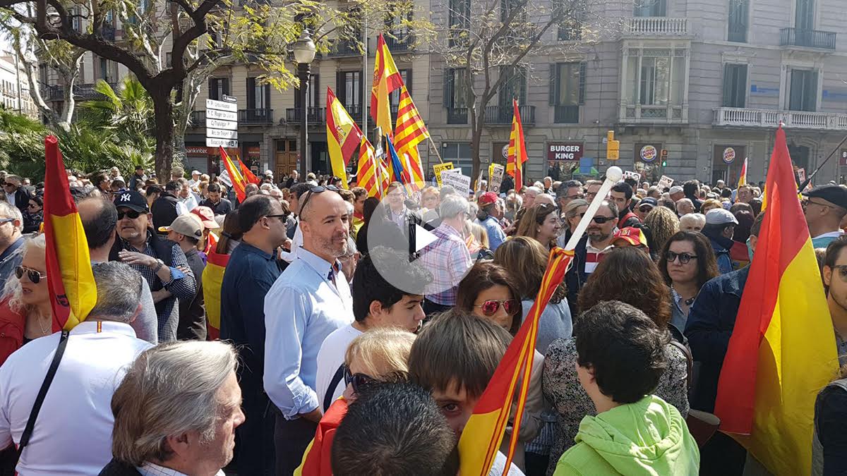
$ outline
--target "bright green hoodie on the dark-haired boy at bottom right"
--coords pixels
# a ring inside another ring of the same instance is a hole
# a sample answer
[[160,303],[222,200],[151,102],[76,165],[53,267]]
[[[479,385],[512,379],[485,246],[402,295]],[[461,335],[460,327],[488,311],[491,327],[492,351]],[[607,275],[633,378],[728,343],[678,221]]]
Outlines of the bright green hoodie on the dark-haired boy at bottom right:
[[554,476],[571,474],[697,474],[700,451],[678,410],[645,396],[579,423],[576,446],[565,451]]

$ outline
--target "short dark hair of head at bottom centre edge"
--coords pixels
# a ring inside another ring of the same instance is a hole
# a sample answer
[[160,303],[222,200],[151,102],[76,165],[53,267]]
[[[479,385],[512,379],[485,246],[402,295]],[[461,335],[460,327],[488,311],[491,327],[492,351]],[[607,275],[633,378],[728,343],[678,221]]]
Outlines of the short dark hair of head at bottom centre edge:
[[366,385],[332,440],[332,473],[456,476],[456,434],[418,385]]

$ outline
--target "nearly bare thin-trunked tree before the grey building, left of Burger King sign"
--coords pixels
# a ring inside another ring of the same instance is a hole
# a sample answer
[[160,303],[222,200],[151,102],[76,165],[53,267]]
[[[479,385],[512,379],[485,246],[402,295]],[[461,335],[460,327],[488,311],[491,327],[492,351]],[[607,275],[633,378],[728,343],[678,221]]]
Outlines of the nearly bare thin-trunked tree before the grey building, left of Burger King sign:
[[[486,125],[485,108],[504,88],[515,92],[510,80],[526,80],[535,57],[573,52],[558,36],[595,42],[600,19],[590,13],[586,0],[445,0],[447,24],[440,25],[434,46],[445,69],[458,69],[458,87],[466,95],[471,124],[472,177],[479,175],[480,144]],[[592,18],[590,25],[584,19]],[[553,29],[556,30],[555,32]],[[495,76],[495,70],[500,74]],[[511,106],[511,101],[509,102]],[[511,117],[511,113],[509,113]]]

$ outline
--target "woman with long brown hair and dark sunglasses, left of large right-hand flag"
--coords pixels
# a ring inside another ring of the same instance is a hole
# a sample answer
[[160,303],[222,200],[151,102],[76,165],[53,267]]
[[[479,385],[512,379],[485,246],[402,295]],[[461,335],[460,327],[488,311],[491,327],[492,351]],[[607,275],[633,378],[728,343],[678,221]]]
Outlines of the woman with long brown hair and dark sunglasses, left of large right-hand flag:
[[659,271],[671,289],[671,329],[682,341],[689,310],[700,288],[718,274],[715,252],[705,235],[680,231],[670,237],[659,258]]

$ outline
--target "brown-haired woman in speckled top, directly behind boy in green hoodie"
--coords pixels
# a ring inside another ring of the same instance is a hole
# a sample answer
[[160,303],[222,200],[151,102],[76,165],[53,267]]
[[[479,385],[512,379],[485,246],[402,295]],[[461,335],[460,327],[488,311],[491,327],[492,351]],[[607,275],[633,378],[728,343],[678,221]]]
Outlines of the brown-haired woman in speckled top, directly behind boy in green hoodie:
[[[656,263],[637,248],[617,248],[606,254],[579,291],[580,309],[588,310],[603,301],[625,302],[653,319],[659,329],[668,329],[670,291],[662,282]],[[689,412],[688,358],[671,342],[669,332],[664,351],[667,369],[653,393],[677,407],[686,418]],[[564,451],[574,445],[580,421],[586,415],[597,414],[594,402],[579,384],[576,363],[577,348],[573,339],[553,342],[544,359],[544,395],[556,408],[562,429],[556,434],[551,451],[553,465]]]

